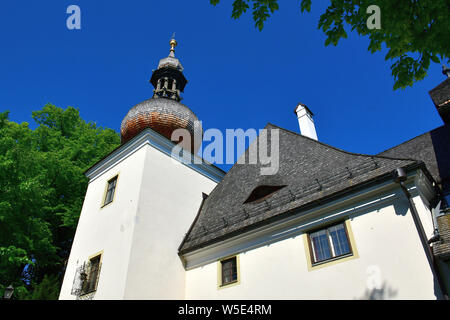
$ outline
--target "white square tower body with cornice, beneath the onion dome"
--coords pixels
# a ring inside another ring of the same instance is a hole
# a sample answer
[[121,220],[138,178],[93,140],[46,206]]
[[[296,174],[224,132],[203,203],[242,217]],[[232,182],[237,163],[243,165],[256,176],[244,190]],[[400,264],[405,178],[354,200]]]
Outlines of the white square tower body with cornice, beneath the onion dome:
[[[72,294],[76,269],[101,253],[93,299],[183,299],[185,271],[177,255],[202,202],[223,174],[187,166],[167,154],[165,138],[146,130],[94,166],[60,292]],[[112,203],[102,207],[118,175]]]

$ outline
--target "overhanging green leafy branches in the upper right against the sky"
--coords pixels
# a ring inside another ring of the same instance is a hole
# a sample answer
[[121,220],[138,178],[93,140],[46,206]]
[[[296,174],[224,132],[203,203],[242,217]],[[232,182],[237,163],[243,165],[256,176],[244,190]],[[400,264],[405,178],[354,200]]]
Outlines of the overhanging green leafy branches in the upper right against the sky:
[[[210,0],[217,5],[220,0]],[[309,12],[312,0],[301,0],[300,11]],[[367,8],[381,9],[381,29],[369,29]],[[238,19],[252,6],[255,26],[279,9],[278,0],[234,0],[232,17]],[[412,86],[427,75],[430,62],[445,63],[450,57],[449,0],[331,0],[320,16],[318,28],[327,36],[325,45],[337,45],[347,31],[368,36],[371,53],[388,50],[394,89]],[[347,29],[347,30],[346,30]]]

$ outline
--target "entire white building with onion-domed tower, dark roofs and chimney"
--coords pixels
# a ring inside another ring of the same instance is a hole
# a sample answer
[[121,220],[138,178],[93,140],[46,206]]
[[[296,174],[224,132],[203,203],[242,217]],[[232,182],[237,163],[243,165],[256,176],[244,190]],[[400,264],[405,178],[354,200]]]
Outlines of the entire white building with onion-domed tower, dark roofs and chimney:
[[201,132],[171,46],[122,144],[85,173],[60,299],[446,298],[450,79],[430,93],[445,124],[382,154],[318,141],[299,104],[299,132],[266,126],[279,137],[275,174],[260,161],[225,173],[171,156],[176,129]]

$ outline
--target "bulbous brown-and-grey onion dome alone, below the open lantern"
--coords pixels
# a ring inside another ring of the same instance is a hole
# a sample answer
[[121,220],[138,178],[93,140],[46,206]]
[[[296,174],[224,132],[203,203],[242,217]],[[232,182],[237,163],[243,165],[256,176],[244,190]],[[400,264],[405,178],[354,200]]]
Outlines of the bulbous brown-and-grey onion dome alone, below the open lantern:
[[146,128],[155,130],[169,140],[176,129],[188,130],[192,147],[187,149],[194,154],[201,144],[201,141],[197,141],[194,146],[194,133],[199,132],[200,140],[203,135],[197,116],[184,104],[169,98],[151,98],[131,108],[122,120],[122,143],[131,140]]

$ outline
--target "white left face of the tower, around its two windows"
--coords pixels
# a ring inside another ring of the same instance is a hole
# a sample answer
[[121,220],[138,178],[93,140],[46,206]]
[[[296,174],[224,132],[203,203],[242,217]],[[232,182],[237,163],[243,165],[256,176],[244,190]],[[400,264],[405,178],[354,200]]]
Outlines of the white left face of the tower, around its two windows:
[[[103,251],[95,299],[123,299],[146,150],[139,149],[89,183],[70,252],[60,299],[75,299],[76,268]],[[119,174],[114,201],[102,207],[109,179]]]

